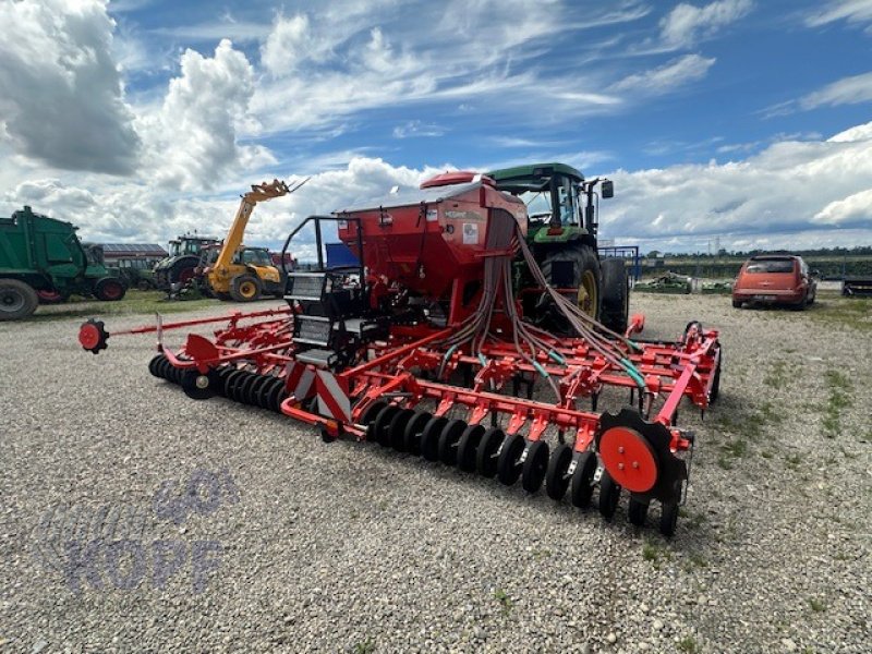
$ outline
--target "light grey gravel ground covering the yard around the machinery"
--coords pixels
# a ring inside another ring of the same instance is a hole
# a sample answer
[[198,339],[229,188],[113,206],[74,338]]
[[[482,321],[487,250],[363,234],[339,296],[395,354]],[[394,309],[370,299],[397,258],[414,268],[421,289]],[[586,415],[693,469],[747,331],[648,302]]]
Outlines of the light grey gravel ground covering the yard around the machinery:
[[2,324],[0,650],[869,652],[872,332],[827,318],[843,302],[633,296],[646,336],[702,318],[724,343],[719,403],[681,412],[698,447],[671,542],[626,497],[607,524],[193,402],[149,376],[152,337],[92,356],[78,320]]

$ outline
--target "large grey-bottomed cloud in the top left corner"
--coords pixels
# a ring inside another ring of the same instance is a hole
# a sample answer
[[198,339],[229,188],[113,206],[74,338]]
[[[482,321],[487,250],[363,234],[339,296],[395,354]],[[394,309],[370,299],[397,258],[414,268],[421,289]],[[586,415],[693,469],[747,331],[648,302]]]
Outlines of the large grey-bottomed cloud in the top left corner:
[[51,167],[128,174],[140,140],[99,0],[0,1],[0,126]]

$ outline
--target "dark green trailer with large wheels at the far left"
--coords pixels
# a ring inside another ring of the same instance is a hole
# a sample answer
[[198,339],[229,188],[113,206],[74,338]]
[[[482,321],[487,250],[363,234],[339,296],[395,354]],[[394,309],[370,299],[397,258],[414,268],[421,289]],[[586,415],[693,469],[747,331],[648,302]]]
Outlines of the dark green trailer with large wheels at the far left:
[[0,320],[32,315],[40,302],[70,295],[121,300],[126,286],[109,275],[99,245],[84,245],[76,227],[31,207],[0,218]]

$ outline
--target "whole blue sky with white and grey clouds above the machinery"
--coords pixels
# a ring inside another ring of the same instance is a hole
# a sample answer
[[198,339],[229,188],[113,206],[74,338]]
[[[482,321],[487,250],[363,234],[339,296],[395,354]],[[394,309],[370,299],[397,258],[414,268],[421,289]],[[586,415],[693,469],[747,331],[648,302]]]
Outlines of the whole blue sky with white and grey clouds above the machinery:
[[872,243],[872,0],[0,0],[0,214],[276,245],[449,168],[615,180],[645,249]]

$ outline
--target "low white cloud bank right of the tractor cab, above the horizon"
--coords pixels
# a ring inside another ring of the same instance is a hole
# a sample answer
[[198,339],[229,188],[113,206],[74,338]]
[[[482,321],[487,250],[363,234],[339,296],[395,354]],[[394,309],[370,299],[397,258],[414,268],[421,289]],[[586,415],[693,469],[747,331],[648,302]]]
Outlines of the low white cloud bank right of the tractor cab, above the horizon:
[[[827,141],[775,143],[744,160],[620,170],[614,179],[616,199],[603,205],[607,238],[692,243],[758,234],[772,241],[765,234],[777,232],[790,246],[789,233],[834,226],[872,238],[872,123]],[[825,245],[838,235],[819,232],[819,239]]]

